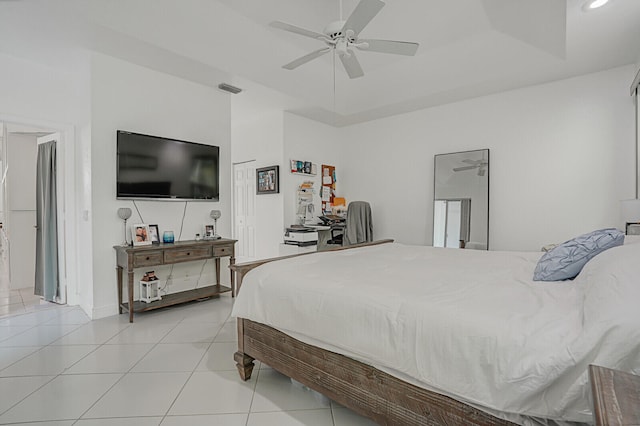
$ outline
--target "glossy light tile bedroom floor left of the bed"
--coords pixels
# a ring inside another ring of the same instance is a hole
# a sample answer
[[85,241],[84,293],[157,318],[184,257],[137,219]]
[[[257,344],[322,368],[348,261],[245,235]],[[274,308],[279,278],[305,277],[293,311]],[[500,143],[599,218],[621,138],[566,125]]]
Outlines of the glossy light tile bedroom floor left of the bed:
[[275,370],[240,380],[233,299],[89,321],[50,305],[0,318],[0,424],[373,425]]

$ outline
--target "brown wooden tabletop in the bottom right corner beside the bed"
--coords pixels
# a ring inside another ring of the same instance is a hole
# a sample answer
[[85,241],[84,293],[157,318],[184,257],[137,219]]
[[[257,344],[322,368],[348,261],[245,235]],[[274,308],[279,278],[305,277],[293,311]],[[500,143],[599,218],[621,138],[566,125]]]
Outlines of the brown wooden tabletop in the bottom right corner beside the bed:
[[640,376],[589,366],[596,425],[640,424]]

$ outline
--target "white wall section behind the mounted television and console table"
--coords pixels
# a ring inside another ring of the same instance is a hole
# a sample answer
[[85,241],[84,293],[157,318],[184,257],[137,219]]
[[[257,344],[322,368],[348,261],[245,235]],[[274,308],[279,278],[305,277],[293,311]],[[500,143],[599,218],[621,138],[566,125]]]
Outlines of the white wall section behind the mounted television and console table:
[[[220,147],[220,201],[187,204],[182,240],[192,240],[211,223],[209,212],[218,209],[219,233],[231,235],[230,101],[217,89],[152,71],[119,59],[94,54],[91,60],[91,176],[93,218],[93,317],[117,313],[115,252],[122,242],[118,207],[131,207],[129,224],[140,223],[132,201],[116,200],[116,130],[165,136]],[[158,224],[160,234],[172,230],[179,238],[184,202],[137,201],[144,223]],[[200,286],[211,282],[214,266],[204,268]],[[170,293],[193,288],[201,262],[175,265]],[[229,284],[225,260],[221,281]],[[155,268],[167,278],[170,267]],[[144,271],[136,271],[142,273]],[[138,276],[135,277],[136,281]]]

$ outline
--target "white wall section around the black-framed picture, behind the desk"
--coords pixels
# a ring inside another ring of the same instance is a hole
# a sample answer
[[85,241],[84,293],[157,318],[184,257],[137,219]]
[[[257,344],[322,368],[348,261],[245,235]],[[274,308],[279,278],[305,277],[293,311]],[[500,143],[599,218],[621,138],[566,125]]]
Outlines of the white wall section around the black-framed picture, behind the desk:
[[[317,216],[321,214],[319,173],[322,164],[337,167],[340,192],[340,129],[283,112],[277,96],[269,90],[261,90],[257,98],[243,96],[232,98],[232,161],[256,160],[256,167],[280,166],[280,193],[256,196],[256,258],[279,256],[284,228],[296,223],[298,185],[305,180],[315,182]],[[265,101],[267,99],[274,103]],[[318,175],[292,174],[291,159],[316,163]]]

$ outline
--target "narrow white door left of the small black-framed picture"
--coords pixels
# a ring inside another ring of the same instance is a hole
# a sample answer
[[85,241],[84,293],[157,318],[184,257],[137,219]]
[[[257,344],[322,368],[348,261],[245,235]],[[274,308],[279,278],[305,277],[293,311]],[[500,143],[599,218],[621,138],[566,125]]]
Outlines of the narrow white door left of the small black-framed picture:
[[256,162],[233,165],[233,238],[236,262],[256,256]]

